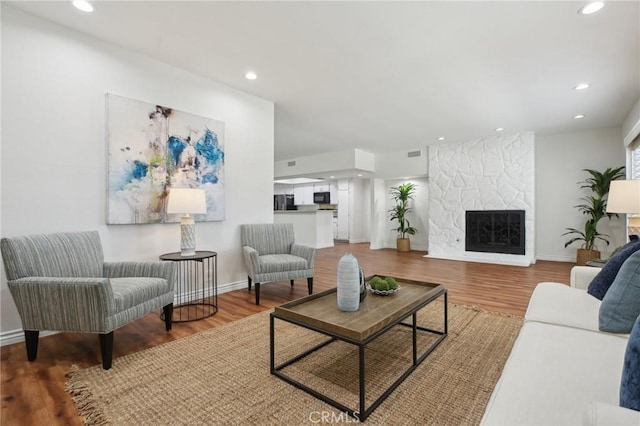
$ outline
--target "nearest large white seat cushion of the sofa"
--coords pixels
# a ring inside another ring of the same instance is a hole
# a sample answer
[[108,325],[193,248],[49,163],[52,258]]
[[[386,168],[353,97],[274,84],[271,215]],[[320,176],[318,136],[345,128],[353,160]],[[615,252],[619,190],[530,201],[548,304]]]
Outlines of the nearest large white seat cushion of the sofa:
[[579,425],[591,401],[618,404],[627,341],[525,322],[481,424]]

